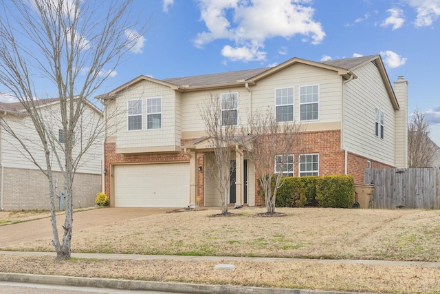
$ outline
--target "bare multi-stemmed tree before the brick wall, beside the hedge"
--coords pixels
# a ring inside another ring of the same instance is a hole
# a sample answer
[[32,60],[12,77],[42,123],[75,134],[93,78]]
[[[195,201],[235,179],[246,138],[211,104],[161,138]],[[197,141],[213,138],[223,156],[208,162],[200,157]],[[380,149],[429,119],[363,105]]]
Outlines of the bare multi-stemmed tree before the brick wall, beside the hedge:
[[276,191],[283,185],[283,177],[294,175],[294,151],[299,149],[300,129],[296,123],[278,123],[274,109],[268,107],[250,113],[248,128],[243,128],[243,136],[239,137],[240,145],[254,162],[267,213],[275,213]]

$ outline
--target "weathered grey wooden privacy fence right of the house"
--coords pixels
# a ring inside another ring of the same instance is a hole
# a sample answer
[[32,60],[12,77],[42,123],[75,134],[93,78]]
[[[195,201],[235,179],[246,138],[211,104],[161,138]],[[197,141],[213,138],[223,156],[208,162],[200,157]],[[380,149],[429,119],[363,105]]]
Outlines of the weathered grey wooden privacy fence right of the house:
[[365,169],[364,183],[374,186],[370,208],[440,209],[440,167]]

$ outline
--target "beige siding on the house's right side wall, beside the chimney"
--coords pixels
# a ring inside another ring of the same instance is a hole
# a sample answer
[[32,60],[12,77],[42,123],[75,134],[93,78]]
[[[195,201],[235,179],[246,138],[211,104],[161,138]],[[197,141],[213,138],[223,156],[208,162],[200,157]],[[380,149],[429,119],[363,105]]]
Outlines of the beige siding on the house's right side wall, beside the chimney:
[[[343,140],[348,151],[395,165],[395,114],[380,72],[373,63],[354,72],[346,83]],[[375,109],[384,112],[384,139],[375,136]]]

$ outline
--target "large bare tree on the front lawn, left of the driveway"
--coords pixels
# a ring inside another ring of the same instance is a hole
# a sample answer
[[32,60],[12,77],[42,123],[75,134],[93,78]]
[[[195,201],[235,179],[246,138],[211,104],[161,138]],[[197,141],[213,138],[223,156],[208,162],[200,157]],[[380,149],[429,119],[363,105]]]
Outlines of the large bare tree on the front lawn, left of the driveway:
[[[89,99],[114,72],[122,56],[143,38],[146,25],[135,31],[131,1],[10,0],[2,1],[0,17],[0,84],[25,107],[40,139],[45,162],[33,157],[28,141],[2,120],[17,138],[28,158],[47,177],[50,191],[52,241],[57,260],[70,258],[72,185],[81,158],[99,138],[102,120],[86,120]],[[148,23],[148,21],[146,21]],[[56,111],[41,111],[45,87],[54,85],[59,99]],[[58,140],[61,124],[63,143]],[[83,132],[87,125],[87,132]],[[60,242],[55,217],[52,156],[65,185],[65,222]]]

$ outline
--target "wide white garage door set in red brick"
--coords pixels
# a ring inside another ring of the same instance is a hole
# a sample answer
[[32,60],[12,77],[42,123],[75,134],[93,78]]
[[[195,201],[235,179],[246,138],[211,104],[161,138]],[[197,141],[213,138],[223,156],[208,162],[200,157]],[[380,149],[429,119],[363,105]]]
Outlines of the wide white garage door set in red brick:
[[188,207],[189,163],[115,165],[115,207]]

